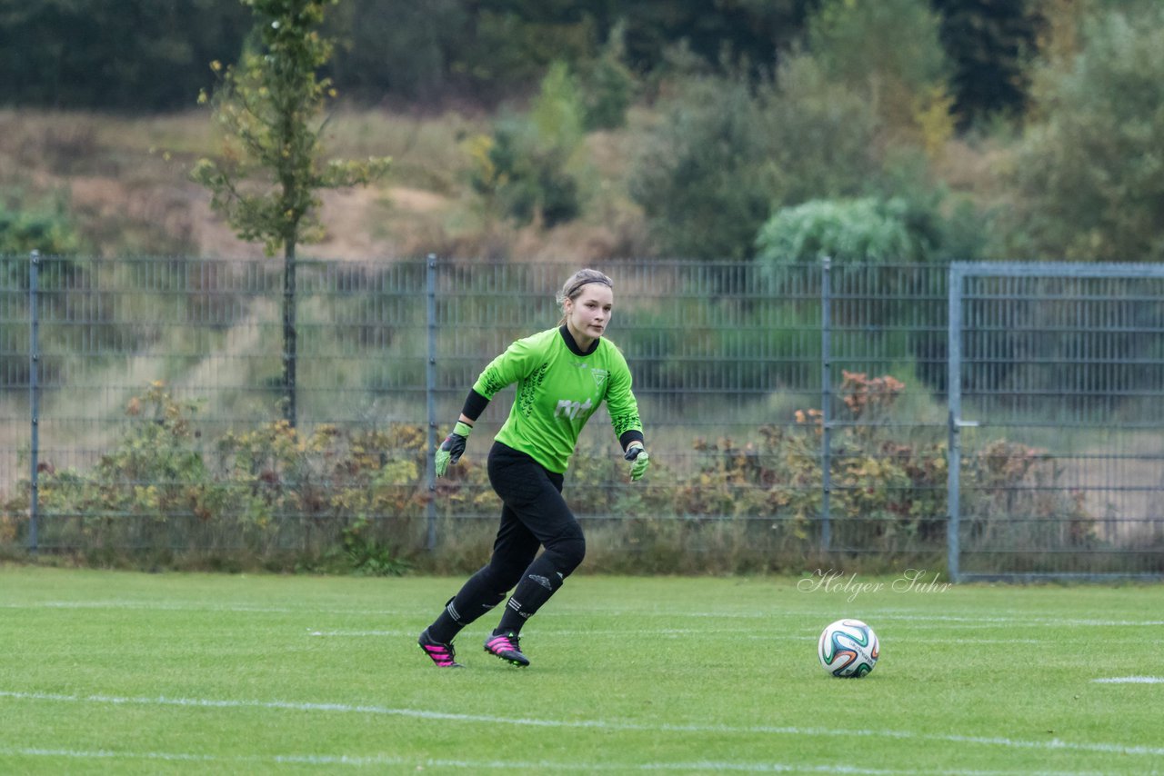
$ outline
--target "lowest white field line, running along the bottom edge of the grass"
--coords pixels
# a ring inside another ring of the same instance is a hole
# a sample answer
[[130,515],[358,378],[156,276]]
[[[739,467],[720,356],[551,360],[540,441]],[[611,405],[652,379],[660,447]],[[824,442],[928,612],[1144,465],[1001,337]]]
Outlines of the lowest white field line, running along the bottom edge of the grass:
[[[161,762],[199,762],[199,763],[270,763],[270,764],[307,764],[307,766],[404,766],[420,770],[423,768],[456,768],[462,770],[517,770],[532,773],[558,773],[558,771],[616,771],[625,773],[630,770],[644,771],[667,771],[677,770],[682,773],[703,771],[736,771],[751,774],[854,774],[881,776],[888,774],[958,774],[959,776],[1002,776],[1014,771],[999,770],[957,770],[957,771],[917,771],[917,770],[885,770],[880,768],[857,768],[850,764],[805,764],[805,763],[778,763],[778,762],[606,762],[606,763],[579,763],[579,762],[518,762],[508,760],[436,760],[432,757],[407,759],[393,755],[240,755],[235,757],[214,756],[203,754],[185,754],[173,752],[111,752],[107,749],[84,750],[84,749],[45,749],[24,748],[5,749],[0,748],[0,757],[50,757],[63,760],[156,760]],[[1034,771],[1032,776],[1090,776],[1091,771]]]

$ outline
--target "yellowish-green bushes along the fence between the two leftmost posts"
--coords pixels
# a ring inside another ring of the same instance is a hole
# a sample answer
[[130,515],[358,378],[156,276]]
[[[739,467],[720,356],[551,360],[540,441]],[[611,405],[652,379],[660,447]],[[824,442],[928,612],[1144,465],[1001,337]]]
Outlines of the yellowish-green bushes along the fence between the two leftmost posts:
[[[154,383],[132,399],[118,444],[90,472],[40,479],[45,547],[98,554],[210,551],[297,567],[399,572],[421,547],[421,428],[304,435],[279,420],[208,440],[199,403]],[[26,487],[21,489],[27,493]],[[27,510],[27,496],[5,505]]]

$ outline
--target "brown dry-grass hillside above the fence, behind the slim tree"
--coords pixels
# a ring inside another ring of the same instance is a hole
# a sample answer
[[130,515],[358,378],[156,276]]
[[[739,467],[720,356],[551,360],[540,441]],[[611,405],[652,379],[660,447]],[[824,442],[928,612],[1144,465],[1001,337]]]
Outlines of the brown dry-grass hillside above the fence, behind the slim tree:
[[[597,199],[594,212],[556,229],[514,228],[491,218],[468,193],[462,142],[483,122],[460,115],[416,119],[341,112],[326,150],[393,158],[375,186],[324,192],[324,242],[303,255],[367,259],[438,252],[579,261],[643,249],[643,227],[625,197]],[[620,138],[590,138],[591,159],[608,175],[625,166]],[[255,257],[189,180],[193,162],[217,149],[208,112],[155,116],[0,111],[0,186],[13,205],[37,202],[70,213],[86,252]],[[610,226],[615,225],[615,226]]]

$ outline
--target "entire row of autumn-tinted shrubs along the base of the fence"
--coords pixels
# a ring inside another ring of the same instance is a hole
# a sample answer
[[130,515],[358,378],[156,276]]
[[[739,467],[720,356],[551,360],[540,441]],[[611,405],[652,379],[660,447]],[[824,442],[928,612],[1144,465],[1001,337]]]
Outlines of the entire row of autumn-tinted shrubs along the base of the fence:
[[[589,568],[637,572],[800,570],[822,554],[941,561],[945,440],[902,439],[904,385],[845,372],[831,454],[831,544],[822,549],[822,413],[754,439],[693,442],[659,456],[645,482],[605,449],[572,461],[567,500],[588,525]],[[41,477],[41,541],[87,562],[398,575],[461,572],[488,558],[499,510],[485,467],[466,456],[430,493],[419,426],[310,434],[285,421],[203,435],[199,403],[161,383],[129,403],[132,422],[90,472]],[[1045,454],[999,440],[963,471],[964,549],[1098,547],[1095,522]],[[21,492],[27,493],[27,483]],[[427,505],[435,505],[428,553]],[[0,542],[27,528],[27,496],[0,512]],[[1020,517],[1015,520],[1014,517]],[[1067,519],[1064,520],[1063,518]],[[611,519],[613,518],[613,519]]]

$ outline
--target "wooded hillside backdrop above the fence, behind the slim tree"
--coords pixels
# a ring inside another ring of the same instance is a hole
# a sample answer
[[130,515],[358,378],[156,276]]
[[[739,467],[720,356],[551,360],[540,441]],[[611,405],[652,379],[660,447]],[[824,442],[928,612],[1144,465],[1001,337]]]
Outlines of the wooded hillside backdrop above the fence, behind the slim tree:
[[[0,0],[0,254],[261,255],[239,0]],[[319,258],[1161,261],[1155,0],[342,0]]]

